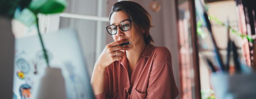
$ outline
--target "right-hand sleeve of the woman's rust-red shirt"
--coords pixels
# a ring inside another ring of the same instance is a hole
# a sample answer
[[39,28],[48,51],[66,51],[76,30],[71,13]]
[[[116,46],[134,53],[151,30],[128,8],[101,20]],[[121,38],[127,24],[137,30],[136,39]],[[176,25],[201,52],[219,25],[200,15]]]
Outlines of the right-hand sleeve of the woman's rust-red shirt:
[[171,53],[168,54],[165,61],[152,66],[146,99],[175,99],[179,94],[172,71]]

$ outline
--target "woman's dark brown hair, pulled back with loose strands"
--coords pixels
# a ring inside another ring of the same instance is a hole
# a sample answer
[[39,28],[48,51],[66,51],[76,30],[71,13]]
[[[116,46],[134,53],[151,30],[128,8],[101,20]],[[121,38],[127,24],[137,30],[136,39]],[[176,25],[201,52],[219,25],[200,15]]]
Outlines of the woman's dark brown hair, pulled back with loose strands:
[[133,33],[133,41],[134,41],[134,28],[140,29],[141,33],[144,29],[145,33],[143,33],[144,41],[147,44],[154,42],[153,38],[149,34],[149,29],[153,27],[151,25],[151,16],[150,14],[138,3],[133,1],[120,1],[116,2],[112,6],[112,10],[110,12],[109,18],[111,18],[114,12],[124,11],[132,20],[132,33]]

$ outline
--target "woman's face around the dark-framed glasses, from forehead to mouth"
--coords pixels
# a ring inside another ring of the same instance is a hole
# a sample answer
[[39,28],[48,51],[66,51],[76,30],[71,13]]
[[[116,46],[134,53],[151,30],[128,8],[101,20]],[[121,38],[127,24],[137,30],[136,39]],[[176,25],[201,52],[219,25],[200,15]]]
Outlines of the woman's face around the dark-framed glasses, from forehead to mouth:
[[[124,11],[118,11],[114,12],[110,18],[110,24],[111,25],[118,25],[121,22],[130,19],[129,16]],[[132,22],[131,22],[132,23]],[[132,35],[132,28],[128,31],[122,31],[121,29],[117,29],[117,33],[112,35],[114,41],[126,41],[126,42],[132,42],[133,41],[133,35]],[[144,38],[142,36],[142,33],[140,33],[140,30],[137,28],[134,28],[134,42],[135,45],[140,45],[145,43]],[[130,49],[133,48],[133,43],[126,45]]]

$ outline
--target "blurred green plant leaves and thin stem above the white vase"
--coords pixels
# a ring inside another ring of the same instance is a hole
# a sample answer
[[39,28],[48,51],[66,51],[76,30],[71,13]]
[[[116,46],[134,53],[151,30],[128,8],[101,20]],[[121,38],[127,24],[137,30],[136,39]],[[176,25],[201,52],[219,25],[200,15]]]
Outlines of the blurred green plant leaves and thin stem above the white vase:
[[68,6],[66,0],[0,0],[0,16],[14,18],[27,27],[37,25],[38,36],[44,52],[44,58],[49,66],[46,49],[39,32],[38,13],[60,13]]

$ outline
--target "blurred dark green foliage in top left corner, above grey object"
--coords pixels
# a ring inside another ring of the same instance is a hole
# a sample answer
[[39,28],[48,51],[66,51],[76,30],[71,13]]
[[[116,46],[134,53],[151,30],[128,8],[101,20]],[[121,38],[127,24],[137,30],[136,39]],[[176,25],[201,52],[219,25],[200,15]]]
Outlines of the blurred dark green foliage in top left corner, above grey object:
[[0,16],[13,18],[20,0],[0,0]]

